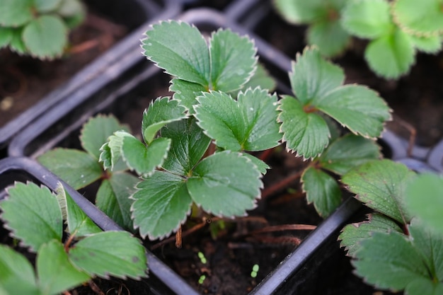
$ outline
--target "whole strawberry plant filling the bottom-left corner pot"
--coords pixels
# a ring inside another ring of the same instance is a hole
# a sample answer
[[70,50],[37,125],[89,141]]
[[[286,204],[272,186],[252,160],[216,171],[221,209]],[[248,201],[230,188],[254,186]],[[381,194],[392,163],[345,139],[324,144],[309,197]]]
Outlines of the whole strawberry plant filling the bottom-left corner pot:
[[[93,277],[146,277],[143,245],[126,231],[101,231],[60,185],[16,183],[0,202],[11,236],[37,253],[34,270],[25,256],[0,245],[1,294],[59,294]],[[67,238],[63,229],[66,221]]]

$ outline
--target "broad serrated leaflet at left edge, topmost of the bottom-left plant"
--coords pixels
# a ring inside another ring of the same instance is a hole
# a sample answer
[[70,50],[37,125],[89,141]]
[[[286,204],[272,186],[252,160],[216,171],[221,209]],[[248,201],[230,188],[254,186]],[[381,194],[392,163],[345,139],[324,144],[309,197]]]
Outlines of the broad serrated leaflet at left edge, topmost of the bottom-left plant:
[[36,252],[40,245],[52,239],[62,240],[62,212],[57,198],[47,187],[16,183],[7,192],[8,197],[0,202],[1,218],[23,245]]

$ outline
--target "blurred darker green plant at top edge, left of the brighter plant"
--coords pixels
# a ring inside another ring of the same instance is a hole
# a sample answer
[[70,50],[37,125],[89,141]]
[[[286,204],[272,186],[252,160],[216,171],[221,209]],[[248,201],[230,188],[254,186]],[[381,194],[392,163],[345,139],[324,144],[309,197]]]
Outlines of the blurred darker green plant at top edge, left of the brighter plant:
[[342,27],[342,10],[350,0],[276,0],[275,9],[289,23],[308,25],[306,41],[321,54],[335,57],[350,44],[350,35]]

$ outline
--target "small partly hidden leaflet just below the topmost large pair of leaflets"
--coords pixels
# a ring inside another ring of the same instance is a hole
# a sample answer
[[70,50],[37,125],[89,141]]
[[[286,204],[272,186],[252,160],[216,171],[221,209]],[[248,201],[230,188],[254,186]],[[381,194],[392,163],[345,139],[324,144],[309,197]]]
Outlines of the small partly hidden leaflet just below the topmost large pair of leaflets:
[[197,104],[197,96],[200,96],[202,92],[207,91],[205,86],[197,83],[188,82],[180,79],[172,79],[171,87],[169,91],[173,91],[173,98],[180,102],[190,114],[194,113],[193,105]]

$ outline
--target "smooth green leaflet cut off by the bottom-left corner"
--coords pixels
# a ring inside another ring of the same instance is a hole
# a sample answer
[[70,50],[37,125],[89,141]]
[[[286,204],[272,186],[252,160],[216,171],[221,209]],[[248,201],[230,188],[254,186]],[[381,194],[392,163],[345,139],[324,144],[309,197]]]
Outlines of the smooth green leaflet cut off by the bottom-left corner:
[[6,295],[40,295],[33,266],[25,256],[6,245],[0,245],[0,274],[0,288],[6,291]]

